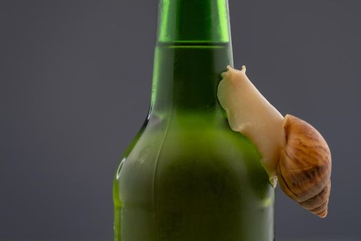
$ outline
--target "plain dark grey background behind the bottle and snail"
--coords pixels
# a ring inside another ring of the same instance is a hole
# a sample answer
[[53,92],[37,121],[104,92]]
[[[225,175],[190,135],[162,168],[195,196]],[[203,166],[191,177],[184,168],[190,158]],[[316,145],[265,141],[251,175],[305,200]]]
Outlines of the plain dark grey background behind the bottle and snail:
[[[361,4],[230,0],[235,66],[333,154],[329,216],[279,189],[277,240],[361,240]],[[0,240],[111,240],[116,161],[144,121],[157,1],[0,1]]]

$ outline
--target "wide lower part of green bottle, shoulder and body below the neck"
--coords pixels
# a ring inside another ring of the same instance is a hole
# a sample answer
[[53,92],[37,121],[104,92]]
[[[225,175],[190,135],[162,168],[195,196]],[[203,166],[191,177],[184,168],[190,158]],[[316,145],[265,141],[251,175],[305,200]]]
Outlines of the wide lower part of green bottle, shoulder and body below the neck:
[[273,240],[273,189],[246,138],[157,125],[119,171],[116,240]]

